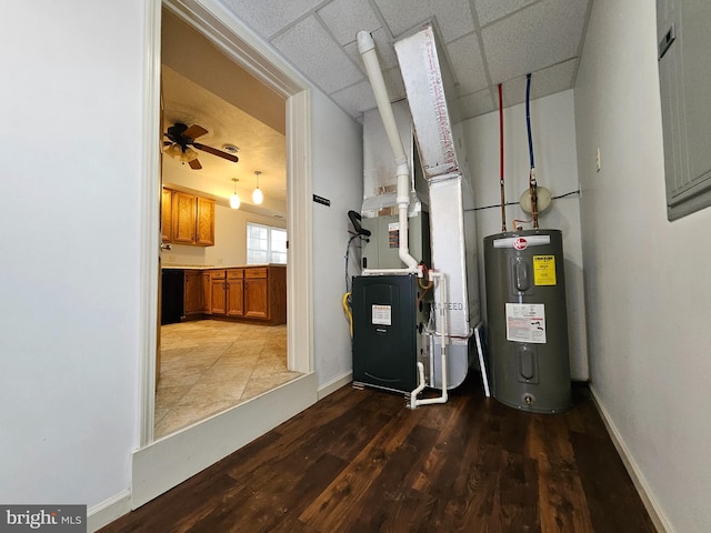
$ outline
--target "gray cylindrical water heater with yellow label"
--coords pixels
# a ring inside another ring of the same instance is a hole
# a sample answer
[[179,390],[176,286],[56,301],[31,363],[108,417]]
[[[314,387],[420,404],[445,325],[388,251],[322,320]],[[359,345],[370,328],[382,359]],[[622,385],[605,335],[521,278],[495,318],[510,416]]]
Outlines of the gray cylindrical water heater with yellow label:
[[524,411],[571,406],[563,244],[559,230],[484,238],[493,396]]

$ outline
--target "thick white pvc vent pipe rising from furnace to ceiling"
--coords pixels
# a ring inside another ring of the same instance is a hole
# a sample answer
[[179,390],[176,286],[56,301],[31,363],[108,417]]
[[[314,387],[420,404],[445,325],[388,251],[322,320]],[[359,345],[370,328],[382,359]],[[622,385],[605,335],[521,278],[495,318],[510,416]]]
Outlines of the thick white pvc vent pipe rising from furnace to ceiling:
[[390,142],[395,162],[395,175],[398,177],[395,201],[398,202],[400,241],[398,254],[400,255],[400,260],[407,265],[407,272],[417,272],[419,276],[422,276],[422,269],[419,268],[417,259],[410,255],[408,243],[408,207],[410,205],[410,168],[408,167],[408,157],[402,147],[395,115],[392,111],[390,98],[388,97],[388,89],[382,78],[382,71],[380,70],[380,62],[378,61],[378,53],[375,52],[375,42],[369,32],[358,32],[358,51],[363,59],[365,72],[368,73],[370,86],[373,89],[378,111],[385,128],[388,141]]

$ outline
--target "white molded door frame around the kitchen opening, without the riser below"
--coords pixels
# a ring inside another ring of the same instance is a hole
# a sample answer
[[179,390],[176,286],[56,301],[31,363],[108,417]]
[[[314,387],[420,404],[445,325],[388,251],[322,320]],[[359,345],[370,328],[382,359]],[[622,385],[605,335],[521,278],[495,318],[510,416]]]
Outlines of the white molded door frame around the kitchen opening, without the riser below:
[[[291,370],[311,376],[300,384],[294,383],[294,388],[301,388],[308,396],[304,396],[303,401],[297,402],[297,404],[311,402],[317,395],[313,361],[310,83],[268,44],[262,42],[251,29],[214,0],[148,0],[146,2],[142,259],[139,316],[142,330],[139,451],[153,444],[156,404],[156,350],[159,334],[158,284],[161,243],[159,220],[161,190],[160,47],[161,9],[163,6],[200,31],[237,64],[287,98],[288,363]],[[308,385],[304,386],[304,383]],[[293,402],[293,398],[291,401]],[[266,405],[273,406],[273,402],[271,404],[268,402]],[[170,435],[166,439],[170,439]]]

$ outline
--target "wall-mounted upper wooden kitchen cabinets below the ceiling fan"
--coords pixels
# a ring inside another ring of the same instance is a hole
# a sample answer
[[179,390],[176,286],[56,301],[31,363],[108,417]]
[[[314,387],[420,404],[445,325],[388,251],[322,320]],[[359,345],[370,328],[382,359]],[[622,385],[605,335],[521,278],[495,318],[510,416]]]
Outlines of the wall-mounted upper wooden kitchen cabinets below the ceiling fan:
[[214,245],[214,200],[163,189],[161,208],[163,242]]

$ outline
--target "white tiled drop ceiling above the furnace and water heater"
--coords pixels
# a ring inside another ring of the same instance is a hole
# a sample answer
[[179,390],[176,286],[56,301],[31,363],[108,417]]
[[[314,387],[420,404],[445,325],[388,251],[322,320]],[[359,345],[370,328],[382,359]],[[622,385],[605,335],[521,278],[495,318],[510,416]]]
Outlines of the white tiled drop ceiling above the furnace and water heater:
[[592,0],[219,0],[360,120],[375,101],[356,36],[371,32],[391,100],[404,98],[393,42],[432,21],[463,119],[571,89]]

